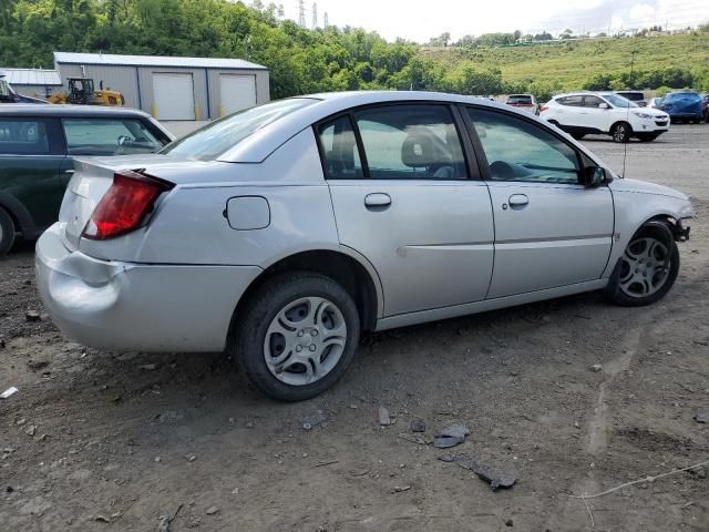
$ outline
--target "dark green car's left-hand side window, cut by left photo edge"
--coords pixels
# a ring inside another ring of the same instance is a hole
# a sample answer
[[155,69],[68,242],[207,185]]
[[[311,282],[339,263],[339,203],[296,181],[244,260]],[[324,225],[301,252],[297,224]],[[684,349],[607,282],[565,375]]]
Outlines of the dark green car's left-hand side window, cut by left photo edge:
[[50,155],[56,153],[50,123],[42,119],[0,119],[0,154]]

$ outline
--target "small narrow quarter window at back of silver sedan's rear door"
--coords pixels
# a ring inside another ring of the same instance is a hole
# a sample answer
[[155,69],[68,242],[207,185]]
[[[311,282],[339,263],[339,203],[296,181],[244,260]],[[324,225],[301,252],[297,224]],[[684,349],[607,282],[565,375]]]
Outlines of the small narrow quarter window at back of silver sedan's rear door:
[[362,175],[357,139],[349,116],[321,124],[318,127],[325,175],[328,180],[357,180]]

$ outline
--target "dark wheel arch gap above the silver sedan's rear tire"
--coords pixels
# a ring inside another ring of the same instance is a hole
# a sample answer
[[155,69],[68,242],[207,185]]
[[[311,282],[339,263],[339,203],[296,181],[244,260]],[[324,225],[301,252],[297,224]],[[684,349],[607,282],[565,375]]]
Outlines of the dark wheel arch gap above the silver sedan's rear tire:
[[271,277],[284,272],[314,272],[339,283],[352,297],[360,314],[362,329],[374,330],[383,311],[381,283],[373,266],[353,249],[310,249],[275,260],[256,277],[237,303],[229,325],[228,341],[233,338],[239,310]]

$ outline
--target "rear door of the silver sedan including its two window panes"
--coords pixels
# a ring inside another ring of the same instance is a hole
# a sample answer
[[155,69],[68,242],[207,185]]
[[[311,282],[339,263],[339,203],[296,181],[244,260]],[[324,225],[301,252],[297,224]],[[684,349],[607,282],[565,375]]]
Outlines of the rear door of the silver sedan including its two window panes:
[[452,108],[379,105],[316,130],[340,242],[377,269],[384,315],[484,299],[490,195],[466,164]]

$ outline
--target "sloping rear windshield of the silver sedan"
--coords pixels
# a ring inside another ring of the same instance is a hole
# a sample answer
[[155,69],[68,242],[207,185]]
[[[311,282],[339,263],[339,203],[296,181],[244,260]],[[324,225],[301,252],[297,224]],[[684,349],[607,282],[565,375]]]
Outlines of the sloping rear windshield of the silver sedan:
[[229,114],[168,144],[160,153],[196,161],[214,161],[261,127],[318,100],[294,98]]

